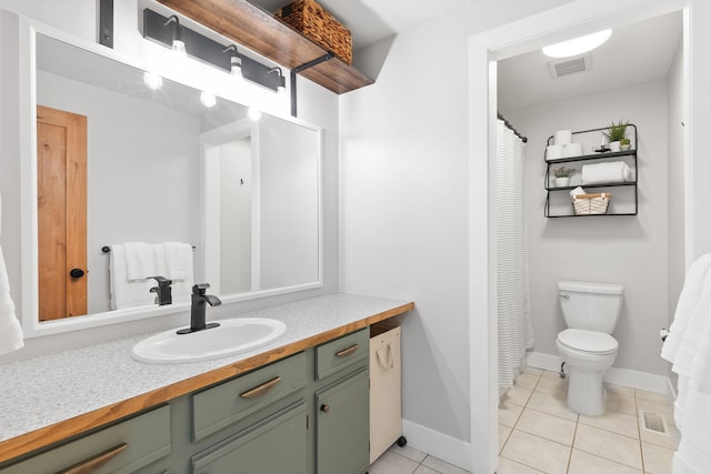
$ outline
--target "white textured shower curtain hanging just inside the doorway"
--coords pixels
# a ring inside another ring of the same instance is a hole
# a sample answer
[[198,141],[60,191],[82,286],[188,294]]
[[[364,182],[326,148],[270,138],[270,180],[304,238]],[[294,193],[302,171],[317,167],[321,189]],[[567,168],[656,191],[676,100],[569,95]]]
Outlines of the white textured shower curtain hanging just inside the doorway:
[[499,303],[499,394],[503,395],[533,347],[527,215],[523,196],[524,142],[504,121],[497,124],[497,258]]

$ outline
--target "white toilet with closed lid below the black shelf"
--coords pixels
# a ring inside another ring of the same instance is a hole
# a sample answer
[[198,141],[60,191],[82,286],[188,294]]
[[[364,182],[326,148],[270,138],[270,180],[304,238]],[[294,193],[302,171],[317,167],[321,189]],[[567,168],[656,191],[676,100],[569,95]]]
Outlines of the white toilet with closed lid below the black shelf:
[[568,406],[581,415],[604,413],[602,375],[618,355],[610,334],[620,320],[623,291],[619,284],[558,283],[568,329],[558,334],[555,345],[568,373]]

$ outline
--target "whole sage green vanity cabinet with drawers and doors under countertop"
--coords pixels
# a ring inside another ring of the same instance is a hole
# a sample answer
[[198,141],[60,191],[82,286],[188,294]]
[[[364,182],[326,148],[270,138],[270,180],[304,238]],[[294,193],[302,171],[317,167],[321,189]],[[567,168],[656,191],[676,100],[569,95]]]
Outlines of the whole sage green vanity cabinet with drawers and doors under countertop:
[[[97,456],[113,474],[363,474],[369,329],[347,334],[0,468],[53,474]],[[113,450],[113,451],[112,451]]]

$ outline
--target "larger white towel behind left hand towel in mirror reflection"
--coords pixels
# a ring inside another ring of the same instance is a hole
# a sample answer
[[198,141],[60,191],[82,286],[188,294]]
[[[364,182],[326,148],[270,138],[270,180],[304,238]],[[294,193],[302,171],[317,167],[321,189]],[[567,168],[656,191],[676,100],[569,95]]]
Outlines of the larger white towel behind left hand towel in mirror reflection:
[[122,244],[114,243],[111,245],[109,273],[111,280],[112,310],[146,306],[156,303],[156,294],[150,292],[151,288],[156,285],[153,280],[128,280],[126,249]]

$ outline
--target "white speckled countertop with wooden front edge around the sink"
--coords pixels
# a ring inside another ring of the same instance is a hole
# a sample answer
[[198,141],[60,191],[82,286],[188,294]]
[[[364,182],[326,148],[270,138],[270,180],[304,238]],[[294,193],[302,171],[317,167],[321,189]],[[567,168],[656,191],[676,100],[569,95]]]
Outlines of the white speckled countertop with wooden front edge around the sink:
[[118,402],[233,364],[260,353],[313,337],[409,302],[337,293],[238,317],[272,317],[287,332],[269,345],[198,363],[154,365],[131,357],[149,336],[123,339],[0,365],[1,443]]

